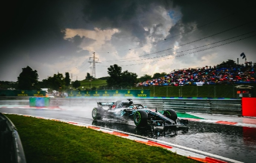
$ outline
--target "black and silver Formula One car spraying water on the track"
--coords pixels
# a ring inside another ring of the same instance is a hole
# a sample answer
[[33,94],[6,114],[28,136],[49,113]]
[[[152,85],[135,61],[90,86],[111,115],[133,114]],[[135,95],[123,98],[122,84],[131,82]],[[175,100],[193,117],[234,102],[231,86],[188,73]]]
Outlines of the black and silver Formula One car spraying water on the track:
[[[178,119],[173,109],[157,110],[148,109],[142,104],[134,104],[132,99],[128,101],[97,102],[98,107],[92,109],[94,120],[117,119],[133,120],[138,127],[145,126],[178,126],[188,124],[187,119]],[[104,108],[103,108],[104,107]]]

